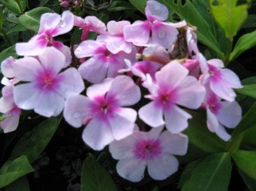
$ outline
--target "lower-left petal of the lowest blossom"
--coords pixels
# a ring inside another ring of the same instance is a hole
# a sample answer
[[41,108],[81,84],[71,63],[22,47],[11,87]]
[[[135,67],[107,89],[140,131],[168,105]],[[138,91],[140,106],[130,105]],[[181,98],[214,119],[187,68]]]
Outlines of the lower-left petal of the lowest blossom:
[[119,160],[116,171],[120,177],[132,182],[139,182],[144,177],[146,163],[134,158]]

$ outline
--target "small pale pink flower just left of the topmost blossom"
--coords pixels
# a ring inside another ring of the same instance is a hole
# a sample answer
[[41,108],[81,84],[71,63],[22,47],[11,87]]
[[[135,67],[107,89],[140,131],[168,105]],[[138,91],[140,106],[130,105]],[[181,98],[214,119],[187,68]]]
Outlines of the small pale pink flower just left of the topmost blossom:
[[99,35],[98,40],[104,40],[106,47],[111,53],[118,53],[120,51],[131,53],[132,43],[125,41],[123,38],[123,28],[131,25],[127,20],[121,20],[116,22],[111,20],[107,23],[108,33],[105,35]]

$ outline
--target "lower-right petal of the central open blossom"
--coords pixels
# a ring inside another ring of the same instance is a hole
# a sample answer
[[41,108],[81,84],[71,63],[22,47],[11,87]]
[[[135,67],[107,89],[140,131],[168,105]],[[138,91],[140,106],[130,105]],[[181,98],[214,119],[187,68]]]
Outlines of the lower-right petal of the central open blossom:
[[120,108],[113,117],[109,119],[114,139],[120,140],[133,133],[134,122],[137,112],[131,108]]

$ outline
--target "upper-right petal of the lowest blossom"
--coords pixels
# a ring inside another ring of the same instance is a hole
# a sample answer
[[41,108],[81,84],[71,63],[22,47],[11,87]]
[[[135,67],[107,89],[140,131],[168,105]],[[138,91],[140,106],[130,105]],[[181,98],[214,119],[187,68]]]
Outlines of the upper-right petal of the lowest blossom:
[[164,131],[160,135],[161,145],[163,145],[163,153],[184,155],[187,153],[189,139],[187,135],[182,133],[172,134]]

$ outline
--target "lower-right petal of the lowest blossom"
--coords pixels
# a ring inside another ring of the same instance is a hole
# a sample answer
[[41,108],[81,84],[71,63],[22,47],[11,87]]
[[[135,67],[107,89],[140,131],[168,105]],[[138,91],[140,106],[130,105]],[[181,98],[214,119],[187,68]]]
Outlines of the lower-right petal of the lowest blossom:
[[161,154],[147,162],[148,174],[154,180],[164,180],[178,171],[179,162],[170,154]]

